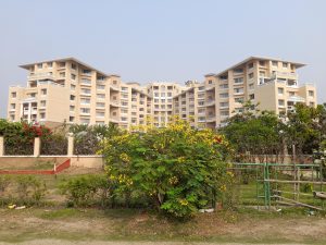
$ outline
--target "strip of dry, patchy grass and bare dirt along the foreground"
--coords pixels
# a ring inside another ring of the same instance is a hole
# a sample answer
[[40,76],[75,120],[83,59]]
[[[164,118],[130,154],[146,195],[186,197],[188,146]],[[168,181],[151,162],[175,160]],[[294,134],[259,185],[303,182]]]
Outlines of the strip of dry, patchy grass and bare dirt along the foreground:
[[149,210],[0,209],[0,241],[180,241],[216,243],[326,244],[325,215],[304,209],[254,209],[200,213],[187,222]]

